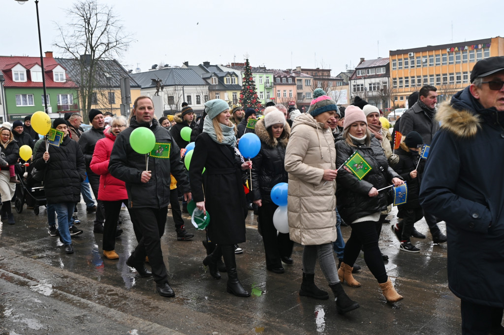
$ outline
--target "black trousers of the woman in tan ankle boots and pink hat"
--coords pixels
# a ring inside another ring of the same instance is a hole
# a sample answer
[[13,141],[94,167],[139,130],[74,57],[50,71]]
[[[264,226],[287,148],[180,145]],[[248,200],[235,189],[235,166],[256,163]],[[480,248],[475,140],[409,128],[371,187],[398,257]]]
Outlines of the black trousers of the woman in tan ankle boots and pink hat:
[[360,249],[364,252],[364,261],[376,280],[383,284],[387,281],[387,271],[383,263],[382,254],[378,247],[378,233],[375,221],[352,223],[352,233],[345,244],[343,262],[353,267],[359,256]]

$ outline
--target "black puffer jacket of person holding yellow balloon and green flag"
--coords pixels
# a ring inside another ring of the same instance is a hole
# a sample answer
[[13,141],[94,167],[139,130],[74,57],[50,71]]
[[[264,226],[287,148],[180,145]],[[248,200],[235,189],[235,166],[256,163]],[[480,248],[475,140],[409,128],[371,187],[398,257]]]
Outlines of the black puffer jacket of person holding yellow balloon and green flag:
[[59,147],[49,145],[49,160],[42,158],[45,145],[34,156],[37,170],[44,171],[44,191],[48,204],[79,202],[81,183],[86,179],[84,156],[76,141],[65,136]]

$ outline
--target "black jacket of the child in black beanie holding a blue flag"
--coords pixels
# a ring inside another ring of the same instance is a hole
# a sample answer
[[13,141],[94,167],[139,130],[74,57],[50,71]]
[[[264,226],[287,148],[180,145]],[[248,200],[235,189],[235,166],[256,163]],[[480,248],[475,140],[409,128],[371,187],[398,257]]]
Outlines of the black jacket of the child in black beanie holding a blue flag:
[[[408,186],[408,202],[401,205],[402,208],[418,208],[420,203],[418,202],[418,195],[420,193],[420,183],[422,180],[423,168],[425,166],[425,159],[421,159],[419,153],[410,151],[406,144],[401,143],[401,151],[398,151],[399,163],[394,166],[394,171],[401,176],[401,178],[406,182]],[[410,172],[415,170],[416,164],[418,164],[417,177],[411,178]]]

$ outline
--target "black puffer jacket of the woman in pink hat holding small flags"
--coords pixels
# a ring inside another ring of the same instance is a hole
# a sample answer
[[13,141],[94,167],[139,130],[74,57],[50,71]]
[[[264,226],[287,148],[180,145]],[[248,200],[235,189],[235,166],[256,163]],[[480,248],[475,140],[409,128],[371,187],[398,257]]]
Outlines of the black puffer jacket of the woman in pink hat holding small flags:
[[[372,135],[371,135],[372,136]],[[383,190],[376,197],[369,197],[371,188],[377,190],[392,184],[392,178],[400,176],[392,170],[385,157],[384,150],[374,136],[371,144],[353,142],[356,147],[349,146],[342,136],[336,140],[336,166],[340,167],[355,151],[371,165],[371,171],[359,181],[353,174],[341,168],[336,179],[338,212],[345,222],[353,222],[361,217],[381,212],[387,209],[389,201],[387,193],[390,189]]]

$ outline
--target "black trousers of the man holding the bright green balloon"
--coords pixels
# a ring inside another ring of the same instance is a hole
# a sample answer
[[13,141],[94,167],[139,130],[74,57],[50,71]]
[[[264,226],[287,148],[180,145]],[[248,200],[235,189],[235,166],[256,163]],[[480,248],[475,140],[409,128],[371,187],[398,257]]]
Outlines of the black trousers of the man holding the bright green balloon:
[[[166,266],[163,261],[163,252],[161,250],[161,236],[164,233],[166,225],[166,215],[168,207],[157,208],[132,208],[130,215],[133,226],[142,234],[137,247],[133,250],[130,260],[133,264],[143,266],[145,257],[149,257],[149,264],[152,268],[152,277],[158,284],[168,281]],[[138,236],[137,236],[138,237]]]

